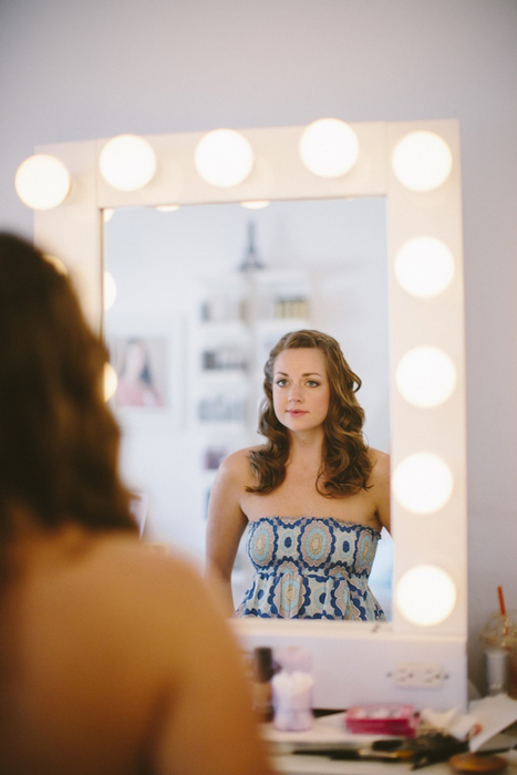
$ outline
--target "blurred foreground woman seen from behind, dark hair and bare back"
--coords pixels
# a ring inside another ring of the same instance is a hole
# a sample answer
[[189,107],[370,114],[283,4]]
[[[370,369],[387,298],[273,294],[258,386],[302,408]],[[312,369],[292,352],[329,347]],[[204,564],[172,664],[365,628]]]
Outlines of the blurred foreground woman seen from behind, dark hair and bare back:
[[138,540],[106,349],[8,234],[0,339],[2,775],[269,775],[219,603]]

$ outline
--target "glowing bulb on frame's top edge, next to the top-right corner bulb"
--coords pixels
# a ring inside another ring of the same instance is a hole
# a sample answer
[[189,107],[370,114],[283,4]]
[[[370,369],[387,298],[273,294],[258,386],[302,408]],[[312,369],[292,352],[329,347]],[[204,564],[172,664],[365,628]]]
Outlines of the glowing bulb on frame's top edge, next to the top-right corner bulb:
[[304,166],[318,177],[341,177],[358,161],[355,132],[339,118],[319,118],[303,131],[300,156]]

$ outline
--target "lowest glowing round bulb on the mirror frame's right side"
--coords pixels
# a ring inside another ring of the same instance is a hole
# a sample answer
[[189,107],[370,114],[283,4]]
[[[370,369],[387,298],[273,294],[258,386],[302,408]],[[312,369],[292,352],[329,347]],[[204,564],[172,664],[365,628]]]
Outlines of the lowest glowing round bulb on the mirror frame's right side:
[[395,601],[405,619],[413,624],[440,624],[456,604],[456,585],[436,565],[417,565],[407,570],[395,589]]

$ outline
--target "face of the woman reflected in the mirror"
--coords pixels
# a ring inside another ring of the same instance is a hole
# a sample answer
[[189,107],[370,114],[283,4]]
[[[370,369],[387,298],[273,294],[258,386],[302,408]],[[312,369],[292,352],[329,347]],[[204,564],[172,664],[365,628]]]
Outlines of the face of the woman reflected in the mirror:
[[282,350],[272,375],[275,414],[292,433],[321,427],[329,412],[325,356],[318,348]]

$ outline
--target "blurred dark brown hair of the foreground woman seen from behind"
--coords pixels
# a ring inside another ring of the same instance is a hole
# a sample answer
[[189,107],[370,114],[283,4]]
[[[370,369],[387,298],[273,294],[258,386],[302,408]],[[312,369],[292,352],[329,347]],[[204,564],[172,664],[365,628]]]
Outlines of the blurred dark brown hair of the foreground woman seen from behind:
[[120,430],[103,397],[107,350],[69,279],[4,232],[0,340],[0,547],[14,505],[48,529],[73,520],[136,530],[118,474]]

